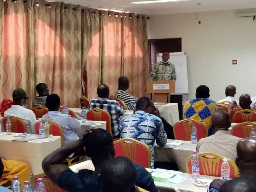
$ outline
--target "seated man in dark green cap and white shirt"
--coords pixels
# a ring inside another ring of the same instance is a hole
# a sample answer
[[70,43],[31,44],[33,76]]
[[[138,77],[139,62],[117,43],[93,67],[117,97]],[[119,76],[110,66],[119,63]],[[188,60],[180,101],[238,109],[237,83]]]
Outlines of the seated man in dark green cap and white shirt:
[[13,105],[4,112],[4,116],[9,115],[23,119],[26,123],[26,132],[35,134],[35,113],[32,110],[25,108],[28,100],[26,92],[23,89],[17,88],[13,91],[12,97]]

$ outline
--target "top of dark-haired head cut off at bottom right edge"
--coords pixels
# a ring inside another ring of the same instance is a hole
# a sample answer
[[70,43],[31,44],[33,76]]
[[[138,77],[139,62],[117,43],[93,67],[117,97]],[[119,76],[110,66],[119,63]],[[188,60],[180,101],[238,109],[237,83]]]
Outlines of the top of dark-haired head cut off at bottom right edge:
[[238,177],[224,183],[219,192],[256,192],[256,183],[255,180]]

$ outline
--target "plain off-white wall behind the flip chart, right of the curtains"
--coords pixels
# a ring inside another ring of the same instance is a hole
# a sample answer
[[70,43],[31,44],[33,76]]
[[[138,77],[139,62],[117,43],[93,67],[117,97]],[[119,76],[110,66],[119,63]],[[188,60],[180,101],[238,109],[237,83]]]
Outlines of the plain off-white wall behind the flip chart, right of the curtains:
[[[198,21],[201,21],[201,25]],[[187,52],[189,99],[205,84],[210,99],[225,97],[229,84],[236,86],[236,97],[256,95],[256,21],[238,18],[235,11],[154,15],[148,20],[148,39],[182,38]],[[237,59],[238,64],[232,65]]]

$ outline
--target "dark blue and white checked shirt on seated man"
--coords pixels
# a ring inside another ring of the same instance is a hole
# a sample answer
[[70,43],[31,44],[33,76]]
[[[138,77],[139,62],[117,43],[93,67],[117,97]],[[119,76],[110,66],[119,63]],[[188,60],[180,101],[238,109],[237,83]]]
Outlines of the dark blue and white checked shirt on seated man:
[[117,136],[120,133],[120,116],[125,113],[124,108],[116,100],[109,100],[100,97],[90,101],[89,109],[94,108],[100,108],[110,114],[112,135]]

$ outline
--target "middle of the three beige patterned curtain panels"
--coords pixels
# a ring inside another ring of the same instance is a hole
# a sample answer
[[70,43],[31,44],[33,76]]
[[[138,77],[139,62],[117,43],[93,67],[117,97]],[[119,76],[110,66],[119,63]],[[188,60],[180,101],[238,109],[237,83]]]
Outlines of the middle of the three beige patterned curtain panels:
[[39,3],[34,6],[35,84],[47,84],[50,93],[60,96],[61,105],[80,107],[81,8]]

